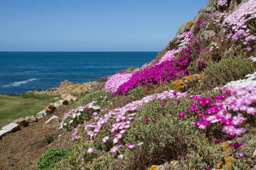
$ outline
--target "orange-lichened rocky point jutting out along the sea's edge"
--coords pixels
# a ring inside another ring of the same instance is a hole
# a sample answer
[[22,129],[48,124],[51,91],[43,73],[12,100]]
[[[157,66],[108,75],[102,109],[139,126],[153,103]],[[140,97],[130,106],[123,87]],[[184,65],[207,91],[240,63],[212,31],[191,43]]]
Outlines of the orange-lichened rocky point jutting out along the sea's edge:
[[49,88],[47,90],[38,91],[37,89],[32,91],[27,91],[28,93],[34,93],[35,95],[38,94],[49,94],[49,95],[61,95],[61,94],[86,94],[90,93],[90,91],[96,90],[100,87],[102,87],[108,78],[111,75],[101,77],[98,81],[92,81],[87,83],[71,83],[68,80],[65,80],[60,83],[59,88]]

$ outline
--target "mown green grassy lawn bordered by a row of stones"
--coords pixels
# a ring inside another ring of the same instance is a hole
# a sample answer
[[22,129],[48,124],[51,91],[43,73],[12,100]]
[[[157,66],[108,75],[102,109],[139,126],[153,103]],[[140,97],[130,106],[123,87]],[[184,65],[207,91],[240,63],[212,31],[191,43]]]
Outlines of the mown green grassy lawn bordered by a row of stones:
[[[0,94],[0,128],[20,117],[36,115],[49,103],[56,100],[23,99],[18,96]],[[1,129],[0,129],[1,130]]]

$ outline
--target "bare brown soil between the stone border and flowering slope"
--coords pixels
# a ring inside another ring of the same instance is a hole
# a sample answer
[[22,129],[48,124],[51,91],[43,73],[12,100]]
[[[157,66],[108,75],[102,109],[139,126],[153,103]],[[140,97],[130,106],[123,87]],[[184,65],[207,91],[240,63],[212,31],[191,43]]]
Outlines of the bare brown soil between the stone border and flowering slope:
[[[71,144],[70,134],[62,134],[58,129],[60,122],[46,125],[45,122],[53,115],[63,118],[63,113],[69,109],[62,106],[54,113],[44,116],[38,122],[30,123],[29,126],[18,130],[15,133],[7,134],[0,139],[0,169],[36,169],[37,159],[50,148],[68,147]],[[55,136],[54,141],[47,144],[44,132]]]

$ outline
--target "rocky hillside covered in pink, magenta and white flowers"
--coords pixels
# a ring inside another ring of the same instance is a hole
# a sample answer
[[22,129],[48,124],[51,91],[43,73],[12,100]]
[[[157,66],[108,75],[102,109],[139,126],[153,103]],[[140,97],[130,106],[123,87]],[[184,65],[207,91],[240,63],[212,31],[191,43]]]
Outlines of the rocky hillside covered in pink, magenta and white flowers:
[[155,60],[69,104],[72,142],[37,169],[256,169],[255,35],[256,0],[209,0]]

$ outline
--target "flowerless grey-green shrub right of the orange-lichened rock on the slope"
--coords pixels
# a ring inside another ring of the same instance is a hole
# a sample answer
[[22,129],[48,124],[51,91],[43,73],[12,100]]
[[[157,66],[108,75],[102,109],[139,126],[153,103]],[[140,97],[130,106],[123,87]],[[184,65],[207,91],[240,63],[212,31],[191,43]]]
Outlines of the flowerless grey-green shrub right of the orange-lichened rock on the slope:
[[244,79],[244,76],[255,71],[256,64],[252,60],[241,56],[224,56],[218,63],[210,63],[204,70],[202,88],[211,90],[212,88],[226,85],[230,81]]

